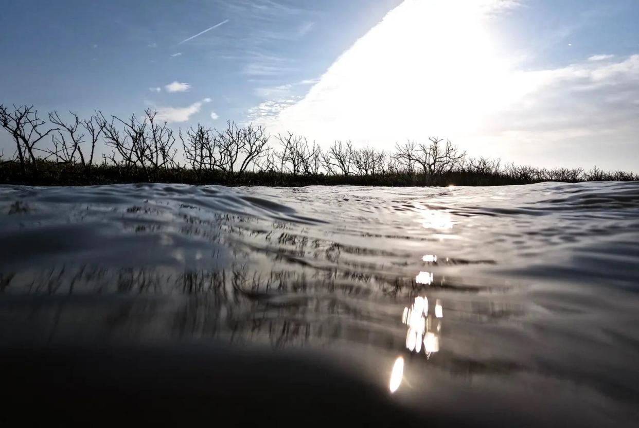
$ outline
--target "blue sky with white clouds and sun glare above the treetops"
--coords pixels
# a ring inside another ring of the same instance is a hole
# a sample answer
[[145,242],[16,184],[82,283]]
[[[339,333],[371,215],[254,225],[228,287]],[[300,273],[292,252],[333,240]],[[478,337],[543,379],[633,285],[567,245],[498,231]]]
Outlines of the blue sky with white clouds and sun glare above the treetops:
[[639,171],[636,22],[636,0],[11,1],[0,103]]

